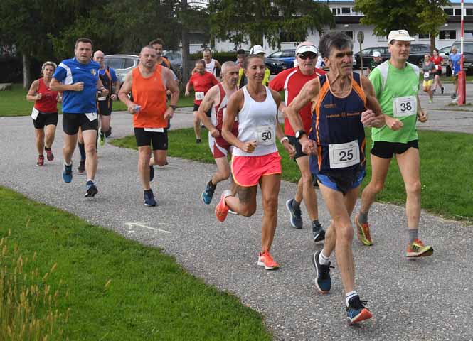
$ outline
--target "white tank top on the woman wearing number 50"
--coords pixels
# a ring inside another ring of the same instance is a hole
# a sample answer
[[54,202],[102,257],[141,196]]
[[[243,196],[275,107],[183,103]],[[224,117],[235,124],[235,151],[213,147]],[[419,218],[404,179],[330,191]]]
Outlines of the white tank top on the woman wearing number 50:
[[277,151],[276,147],[276,114],[275,99],[268,87],[265,102],[256,102],[251,98],[246,85],[242,88],[245,96],[243,108],[238,112],[238,139],[242,142],[257,141],[253,153],[245,153],[240,148],[233,148],[236,156],[262,156]]

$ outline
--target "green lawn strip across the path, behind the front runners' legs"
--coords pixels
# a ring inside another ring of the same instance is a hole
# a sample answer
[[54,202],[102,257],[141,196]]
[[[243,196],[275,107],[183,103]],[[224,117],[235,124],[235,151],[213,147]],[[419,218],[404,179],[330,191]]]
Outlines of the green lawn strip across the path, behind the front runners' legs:
[[[422,208],[437,215],[473,222],[473,144],[471,134],[419,131],[420,175],[422,181]],[[366,151],[371,148],[371,131],[366,129]],[[214,163],[208,150],[207,134],[202,143],[195,144],[193,129],[169,131],[169,156]],[[120,147],[137,148],[134,136],[112,140]],[[191,146],[191,148],[189,148]],[[278,144],[282,156],[282,178],[296,182],[299,169]],[[367,176],[363,188],[371,179],[368,157]],[[386,186],[377,198],[380,202],[405,204],[405,188],[395,160],[391,162]]]

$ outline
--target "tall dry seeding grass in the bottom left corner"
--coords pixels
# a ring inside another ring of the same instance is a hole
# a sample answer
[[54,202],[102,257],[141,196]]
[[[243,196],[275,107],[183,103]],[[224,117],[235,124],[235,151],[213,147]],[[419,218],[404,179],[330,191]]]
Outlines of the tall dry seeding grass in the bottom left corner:
[[46,274],[36,266],[36,252],[23,257],[8,236],[0,239],[0,340],[68,340],[61,325],[68,322],[70,309],[61,311],[59,300],[67,300],[68,291],[51,290],[54,264]]

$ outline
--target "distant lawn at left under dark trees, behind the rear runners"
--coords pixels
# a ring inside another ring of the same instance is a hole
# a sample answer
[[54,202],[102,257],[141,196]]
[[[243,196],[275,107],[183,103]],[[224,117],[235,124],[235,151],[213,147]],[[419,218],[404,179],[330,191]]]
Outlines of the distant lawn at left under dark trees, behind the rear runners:
[[[26,100],[28,90],[23,89],[23,85],[14,84],[11,91],[0,91],[0,117],[4,116],[28,116],[31,115],[33,102]],[[193,92],[189,97],[184,97],[184,92],[179,96],[178,107],[193,107]],[[60,110],[60,104],[58,105]],[[127,110],[127,107],[120,101],[113,102],[114,111]]]

